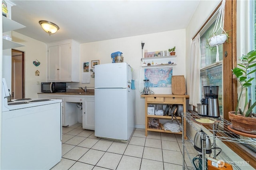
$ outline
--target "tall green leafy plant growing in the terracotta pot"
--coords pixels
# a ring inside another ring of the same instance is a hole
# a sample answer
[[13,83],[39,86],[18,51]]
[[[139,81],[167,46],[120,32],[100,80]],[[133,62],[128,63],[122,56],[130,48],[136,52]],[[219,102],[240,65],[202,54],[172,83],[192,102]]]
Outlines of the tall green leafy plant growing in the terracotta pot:
[[[245,117],[251,117],[252,115],[252,109],[256,106],[256,101],[251,105],[251,99],[248,101],[248,88],[252,86],[252,80],[255,79],[255,77],[252,75],[254,72],[256,72],[256,69],[254,67],[256,66],[256,50],[250,51],[247,53],[247,55],[243,55],[241,57],[242,64],[237,64],[240,66],[240,68],[235,67],[232,69],[233,74],[236,76],[237,81],[240,83],[242,89],[240,92],[240,95],[238,97],[238,103],[236,105],[236,112],[239,110],[241,115],[244,115]],[[245,105],[244,109],[238,108],[240,99],[242,97],[242,93],[245,90]]]

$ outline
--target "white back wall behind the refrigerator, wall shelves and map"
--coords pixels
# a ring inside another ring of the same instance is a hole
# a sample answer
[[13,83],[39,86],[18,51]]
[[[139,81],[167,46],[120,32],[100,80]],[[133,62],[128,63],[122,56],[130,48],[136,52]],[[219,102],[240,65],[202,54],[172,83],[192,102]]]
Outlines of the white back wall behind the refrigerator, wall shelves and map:
[[[80,45],[80,73],[82,73],[82,63],[90,62],[92,60],[100,60],[100,64],[111,63],[111,53],[121,51],[124,56],[124,62],[133,67],[135,70],[135,88],[136,88],[136,125],[145,125],[144,116],[144,98],[140,97],[140,92],[143,90],[143,73],[144,69],[140,68],[142,62],[141,42],[144,42],[144,50],[163,51],[176,46],[176,63],[173,67],[173,75],[184,75],[186,73],[185,67],[185,30],[175,30],[168,32],[161,32],[156,34],[146,34],[142,36],[133,36],[126,38],[118,38],[113,40],[106,40],[100,42],[83,43]],[[143,50],[143,53],[144,53]],[[152,62],[151,60],[149,62]],[[154,63],[157,61],[155,60]],[[82,75],[80,77],[80,82]],[[90,79],[90,83],[68,83],[71,87],[87,86],[94,87],[94,78]],[[171,94],[171,88],[151,88],[157,94]]]

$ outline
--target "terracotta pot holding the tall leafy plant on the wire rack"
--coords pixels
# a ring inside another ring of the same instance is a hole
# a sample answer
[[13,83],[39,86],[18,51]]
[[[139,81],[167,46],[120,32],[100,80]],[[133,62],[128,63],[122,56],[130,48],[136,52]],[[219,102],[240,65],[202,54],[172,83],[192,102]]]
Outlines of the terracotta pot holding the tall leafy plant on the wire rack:
[[235,115],[235,111],[228,112],[228,117],[234,129],[248,134],[256,134],[256,118]]

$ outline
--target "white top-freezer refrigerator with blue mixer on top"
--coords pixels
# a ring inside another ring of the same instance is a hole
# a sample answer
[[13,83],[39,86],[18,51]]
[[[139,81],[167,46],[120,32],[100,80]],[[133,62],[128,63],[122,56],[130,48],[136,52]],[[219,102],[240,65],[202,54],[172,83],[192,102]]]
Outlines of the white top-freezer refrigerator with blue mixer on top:
[[135,90],[127,63],[95,65],[95,136],[126,142],[134,131]]

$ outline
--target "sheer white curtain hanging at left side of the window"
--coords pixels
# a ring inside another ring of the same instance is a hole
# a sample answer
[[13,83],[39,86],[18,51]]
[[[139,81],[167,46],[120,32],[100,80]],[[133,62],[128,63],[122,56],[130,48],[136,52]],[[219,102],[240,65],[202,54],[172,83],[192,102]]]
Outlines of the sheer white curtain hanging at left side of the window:
[[189,104],[200,103],[200,34],[191,43]]

